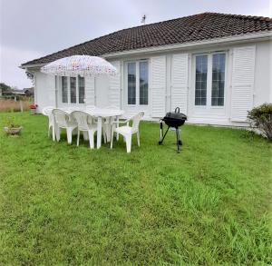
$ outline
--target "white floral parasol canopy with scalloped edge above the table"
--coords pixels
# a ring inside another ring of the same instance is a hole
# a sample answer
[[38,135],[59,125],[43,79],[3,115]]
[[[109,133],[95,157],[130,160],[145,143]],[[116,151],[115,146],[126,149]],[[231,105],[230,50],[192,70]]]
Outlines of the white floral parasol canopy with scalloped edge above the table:
[[115,75],[116,68],[101,57],[90,55],[72,55],[53,61],[41,68],[45,74],[62,76],[98,76]]

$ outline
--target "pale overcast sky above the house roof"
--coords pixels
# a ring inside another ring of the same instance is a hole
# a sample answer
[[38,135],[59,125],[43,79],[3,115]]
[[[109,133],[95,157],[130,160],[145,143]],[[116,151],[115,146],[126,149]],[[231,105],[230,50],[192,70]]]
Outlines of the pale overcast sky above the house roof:
[[0,82],[31,86],[26,61],[113,31],[202,12],[272,16],[272,0],[0,0]]

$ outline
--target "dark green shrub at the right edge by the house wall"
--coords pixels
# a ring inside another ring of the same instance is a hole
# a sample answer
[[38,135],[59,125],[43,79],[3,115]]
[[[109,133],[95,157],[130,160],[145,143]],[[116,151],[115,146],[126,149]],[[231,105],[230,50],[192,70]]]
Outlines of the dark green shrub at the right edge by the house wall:
[[263,103],[248,112],[248,119],[252,127],[257,127],[272,141],[272,103]]

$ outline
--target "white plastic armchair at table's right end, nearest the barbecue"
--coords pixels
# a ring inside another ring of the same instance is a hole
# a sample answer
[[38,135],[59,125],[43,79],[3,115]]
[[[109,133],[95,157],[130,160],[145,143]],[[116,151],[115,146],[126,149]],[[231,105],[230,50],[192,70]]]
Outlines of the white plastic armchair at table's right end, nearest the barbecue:
[[[144,112],[137,113],[133,115],[130,119],[123,122],[113,122],[112,123],[112,139],[111,139],[111,149],[113,143],[113,134],[114,132],[120,133],[126,142],[127,153],[131,153],[131,137],[133,133],[137,133],[137,142],[138,146],[140,146],[140,133],[139,133],[139,123],[141,121]],[[130,126],[130,121],[132,121],[132,126]],[[118,123],[126,123],[126,125],[116,127]]]

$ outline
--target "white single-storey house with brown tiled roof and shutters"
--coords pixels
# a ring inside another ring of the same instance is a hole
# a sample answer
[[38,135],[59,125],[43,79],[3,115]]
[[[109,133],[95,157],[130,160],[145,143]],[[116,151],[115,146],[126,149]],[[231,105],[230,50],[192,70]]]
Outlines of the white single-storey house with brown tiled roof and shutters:
[[[272,102],[272,18],[204,13],[141,25],[21,65],[44,106],[119,106],[158,120],[179,106],[189,123],[247,125],[253,106]],[[73,54],[102,56],[106,78],[53,77],[41,66]]]

